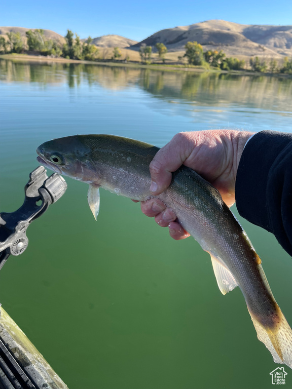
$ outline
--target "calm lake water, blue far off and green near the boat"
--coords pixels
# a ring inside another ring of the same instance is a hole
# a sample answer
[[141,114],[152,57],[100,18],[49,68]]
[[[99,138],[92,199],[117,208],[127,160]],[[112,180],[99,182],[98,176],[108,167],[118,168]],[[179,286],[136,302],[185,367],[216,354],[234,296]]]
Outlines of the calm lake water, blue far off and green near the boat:
[[[291,97],[292,80],[279,77],[1,60],[0,211],[22,204],[46,140],[103,133],[163,146],[179,131],[291,132]],[[171,240],[138,204],[105,191],[95,221],[87,185],[67,183],[1,271],[0,301],[69,388],[272,387],[277,365],[239,288],[220,293],[192,238]],[[292,324],[291,258],[239,219]]]

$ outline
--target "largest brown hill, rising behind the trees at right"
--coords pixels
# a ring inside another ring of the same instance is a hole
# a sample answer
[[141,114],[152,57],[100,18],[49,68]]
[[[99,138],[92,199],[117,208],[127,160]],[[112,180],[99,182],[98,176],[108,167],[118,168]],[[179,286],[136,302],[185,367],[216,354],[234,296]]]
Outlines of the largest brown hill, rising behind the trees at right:
[[197,41],[204,51],[222,49],[229,56],[292,56],[292,25],[253,25],[207,20],[160,30],[132,45],[131,49],[137,50],[143,43],[154,46],[162,42],[169,51],[181,51],[189,41]]

